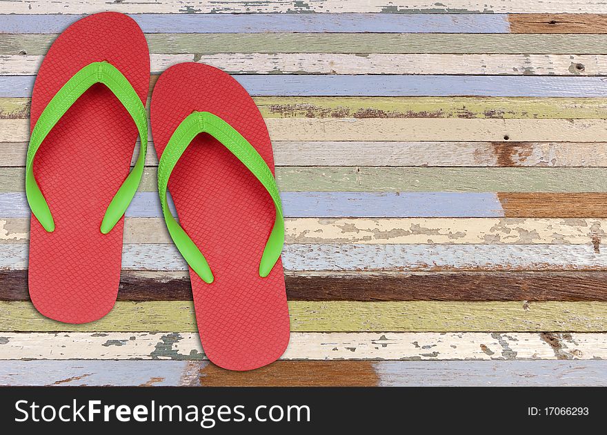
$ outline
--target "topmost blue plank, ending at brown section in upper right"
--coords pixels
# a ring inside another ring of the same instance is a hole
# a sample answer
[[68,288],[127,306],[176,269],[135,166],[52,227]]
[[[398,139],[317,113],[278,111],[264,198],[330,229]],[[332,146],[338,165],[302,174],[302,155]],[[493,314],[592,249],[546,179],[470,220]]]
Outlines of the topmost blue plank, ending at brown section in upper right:
[[[508,33],[506,14],[132,14],[146,33]],[[0,15],[0,33],[59,33],[83,15]]]

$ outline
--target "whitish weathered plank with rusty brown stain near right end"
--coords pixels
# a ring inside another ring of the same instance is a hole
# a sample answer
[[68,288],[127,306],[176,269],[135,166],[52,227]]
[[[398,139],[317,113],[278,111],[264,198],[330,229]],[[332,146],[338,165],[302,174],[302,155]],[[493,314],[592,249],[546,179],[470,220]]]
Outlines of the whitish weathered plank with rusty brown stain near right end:
[[[27,147],[25,142],[0,142],[0,168],[25,166]],[[148,143],[148,150],[153,147]],[[607,166],[607,142],[274,141],[272,148],[277,166]],[[155,152],[148,152],[146,165],[158,165]]]

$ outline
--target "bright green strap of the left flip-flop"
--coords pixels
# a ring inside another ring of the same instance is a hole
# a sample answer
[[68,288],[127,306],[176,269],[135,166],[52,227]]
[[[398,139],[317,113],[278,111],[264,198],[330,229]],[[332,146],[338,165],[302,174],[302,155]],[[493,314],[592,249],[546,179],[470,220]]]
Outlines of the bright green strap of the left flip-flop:
[[[146,150],[148,147],[148,121],[146,118],[146,108],[139,99],[137,92],[132,88],[129,81],[117,70],[117,68],[107,62],[93,62],[79,70],[68,82],[61,87],[59,92],[52,97],[46,108],[40,115],[32,135],[30,145],[28,145],[28,157],[26,162],[26,196],[32,209],[32,213],[41,223],[42,227],[48,231],[54,231],[54,220],[46,203],[46,199],[38,183],[34,178],[34,156],[40,148],[44,138],[48,135],[55,124],[63,117],[68,109],[76,102],[79,97],[95,83],[106,85],[119,99],[122,105],[128,110],[128,113],[135,121],[139,138],[141,139],[141,149],[135,167],[128,174],[128,177],[120,186],[118,192],[108,205],[106,214],[103,216],[100,230],[107,234],[114,225],[123,216],[128,207],[137,186],[141,181],[143,174],[143,163],[146,159]],[[94,162],[93,162],[94,163]]]

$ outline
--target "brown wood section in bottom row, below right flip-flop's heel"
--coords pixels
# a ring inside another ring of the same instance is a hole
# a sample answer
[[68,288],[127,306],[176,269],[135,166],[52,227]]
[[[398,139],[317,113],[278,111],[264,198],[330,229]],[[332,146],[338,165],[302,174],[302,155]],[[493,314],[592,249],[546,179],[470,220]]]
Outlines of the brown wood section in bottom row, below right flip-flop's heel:
[[371,361],[277,361],[248,372],[201,366],[188,374],[190,385],[204,387],[375,387],[379,376]]

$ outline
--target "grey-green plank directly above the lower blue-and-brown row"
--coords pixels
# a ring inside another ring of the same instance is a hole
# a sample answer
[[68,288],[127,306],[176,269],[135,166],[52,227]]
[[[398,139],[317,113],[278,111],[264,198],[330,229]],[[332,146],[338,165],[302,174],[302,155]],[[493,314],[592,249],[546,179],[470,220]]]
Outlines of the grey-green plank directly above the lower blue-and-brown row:
[[[607,192],[607,168],[281,166],[275,174],[283,192]],[[156,168],[145,168],[139,192],[157,185]],[[1,193],[23,190],[23,168],[0,168]]]

